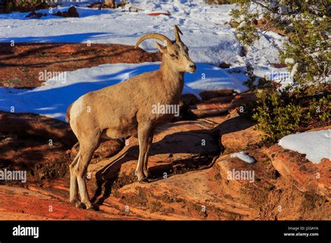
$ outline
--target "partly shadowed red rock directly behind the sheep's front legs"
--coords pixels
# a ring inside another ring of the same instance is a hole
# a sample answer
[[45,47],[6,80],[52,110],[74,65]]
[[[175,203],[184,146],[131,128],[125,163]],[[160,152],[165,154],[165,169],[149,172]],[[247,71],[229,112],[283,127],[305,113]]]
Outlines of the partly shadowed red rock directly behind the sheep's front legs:
[[[220,154],[219,131],[203,121],[178,121],[156,130],[149,153],[151,179],[196,170]],[[112,189],[135,182],[134,170],[139,155],[138,139],[131,137],[116,156],[89,166],[92,182],[98,189]],[[96,181],[93,181],[93,179]]]

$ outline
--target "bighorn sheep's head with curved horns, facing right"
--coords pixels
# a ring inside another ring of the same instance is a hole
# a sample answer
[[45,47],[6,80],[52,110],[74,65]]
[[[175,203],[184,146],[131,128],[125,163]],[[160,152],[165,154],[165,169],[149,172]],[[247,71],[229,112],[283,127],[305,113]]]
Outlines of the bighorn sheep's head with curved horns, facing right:
[[137,48],[142,41],[149,38],[161,40],[163,45],[157,42],[155,42],[155,44],[163,54],[165,60],[168,61],[168,64],[177,72],[194,73],[196,71],[196,64],[189,57],[189,48],[182,42],[179,34],[182,34],[182,31],[175,25],[175,40],[172,41],[162,34],[147,34],[138,40],[135,44],[135,48]]

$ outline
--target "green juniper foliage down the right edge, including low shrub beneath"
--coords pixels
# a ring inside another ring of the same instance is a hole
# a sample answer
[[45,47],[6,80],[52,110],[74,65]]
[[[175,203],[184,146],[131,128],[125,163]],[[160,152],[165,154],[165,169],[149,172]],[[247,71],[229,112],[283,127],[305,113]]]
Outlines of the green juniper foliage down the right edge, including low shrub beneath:
[[[288,41],[279,56],[293,84],[277,90],[271,83],[256,91],[258,101],[242,115],[258,121],[265,139],[276,141],[295,131],[328,124],[330,117],[329,0],[235,0],[231,11],[237,39],[251,45],[263,31],[277,28]],[[265,24],[256,27],[263,18]]]

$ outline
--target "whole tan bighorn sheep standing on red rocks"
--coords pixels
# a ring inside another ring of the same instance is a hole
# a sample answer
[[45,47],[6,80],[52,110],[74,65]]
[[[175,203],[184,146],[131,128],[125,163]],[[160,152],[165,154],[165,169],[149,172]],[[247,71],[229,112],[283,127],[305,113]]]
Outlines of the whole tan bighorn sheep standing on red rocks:
[[135,44],[154,38],[162,53],[158,71],[142,73],[129,80],[98,91],[84,94],[73,102],[66,114],[67,121],[80,143],[80,151],[70,165],[70,201],[80,206],[78,189],[83,205],[92,208],[84,175],[91,156],[98,148],[101,138],[124,138],[138,134],[139,158],[135,175],[138,181],[147,181],[147,160],[155,128],[168,123],[173,114],[155,114],[155,104],[178,105],[184,87],[184,72],[194,73],[196,64],[189,57],[189,49],[175,26],[175,40],[162,34],[146,34]]

